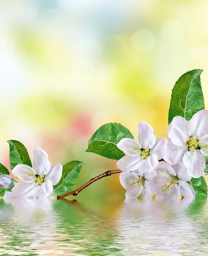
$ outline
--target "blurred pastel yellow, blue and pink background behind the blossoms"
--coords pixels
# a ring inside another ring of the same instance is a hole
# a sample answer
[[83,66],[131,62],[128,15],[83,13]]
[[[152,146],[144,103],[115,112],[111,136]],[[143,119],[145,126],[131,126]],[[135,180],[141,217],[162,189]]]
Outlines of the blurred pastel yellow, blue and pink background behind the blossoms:
[[[208,1],[1,0],[0,162],[7,140],[30,156],[39,146],[52,164],[80,160],[76,187],[117,161],[85,153],[103,124],[119,122],[137,138],[137,122],[167,137],[175,81],[203,69],[208,107]],[[9,168],[10,169],[10,168]],[[123,200],[119,175],[76,199]]]

